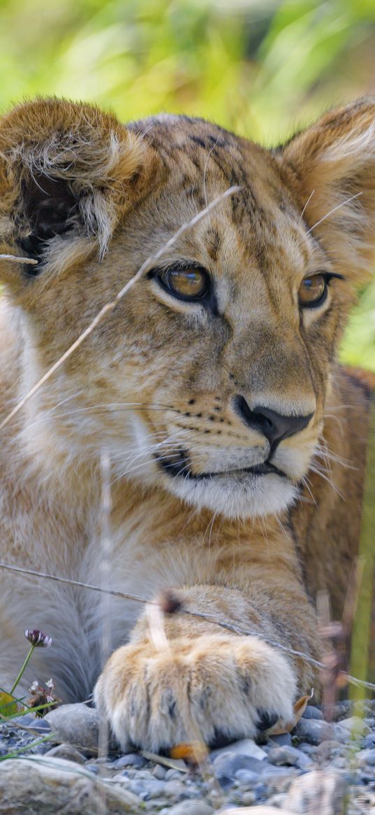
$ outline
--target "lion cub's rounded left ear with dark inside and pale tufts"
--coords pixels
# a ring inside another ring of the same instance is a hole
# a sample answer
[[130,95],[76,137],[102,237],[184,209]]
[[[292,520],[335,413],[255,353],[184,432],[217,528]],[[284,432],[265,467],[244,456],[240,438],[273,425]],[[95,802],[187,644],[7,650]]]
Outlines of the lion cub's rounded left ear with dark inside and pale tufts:
[[[15,108],[0,120],[0,252],[37,260],[24,265],[27,275],[63,271],[95,249],[102,258],[149,153],[90,105]],[[0,276],[11,283],[15,264],[2,262]]]

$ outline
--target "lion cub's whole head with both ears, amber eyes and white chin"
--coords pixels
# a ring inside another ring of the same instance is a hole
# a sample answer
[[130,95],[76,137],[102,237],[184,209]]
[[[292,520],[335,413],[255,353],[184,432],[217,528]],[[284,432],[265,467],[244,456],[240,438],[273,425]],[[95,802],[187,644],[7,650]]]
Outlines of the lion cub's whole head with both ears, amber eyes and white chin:
[[198,119],[122,126],[55,99],[3,117],[1,250],[36,261],[1,264],[22,314],[20,396],[151,258],[29,401],[36,460],[93,472],[104,446],[124,491],[159,485],[229,517],[294,500],[373,256],[374,116],[360,101],[273,151]]

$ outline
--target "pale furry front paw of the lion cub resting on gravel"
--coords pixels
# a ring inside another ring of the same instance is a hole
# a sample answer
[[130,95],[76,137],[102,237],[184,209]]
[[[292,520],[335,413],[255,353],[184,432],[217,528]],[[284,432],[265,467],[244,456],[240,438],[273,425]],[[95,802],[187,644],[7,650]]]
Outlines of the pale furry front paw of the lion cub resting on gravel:
[[293,718],[296,681],[290,663],[256,637],[203,635],[150,642],[112,654],[94,689],[124,751],[159,751],[189,740],[194,720],[207,745],[254,736]]

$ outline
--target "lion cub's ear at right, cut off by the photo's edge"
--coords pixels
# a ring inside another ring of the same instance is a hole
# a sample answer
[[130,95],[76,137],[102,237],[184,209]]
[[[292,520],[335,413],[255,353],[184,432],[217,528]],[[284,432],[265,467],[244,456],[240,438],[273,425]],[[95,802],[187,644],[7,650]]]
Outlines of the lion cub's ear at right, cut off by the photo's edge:
[[366,280],[375,256],[375,98],[327,113],[277,160],[334,266]]

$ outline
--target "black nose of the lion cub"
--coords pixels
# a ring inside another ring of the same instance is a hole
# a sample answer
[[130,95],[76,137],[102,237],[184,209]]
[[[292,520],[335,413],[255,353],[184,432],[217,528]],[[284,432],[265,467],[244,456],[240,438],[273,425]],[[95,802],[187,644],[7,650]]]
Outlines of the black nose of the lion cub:
[[281,416],[281,413],[262,405],[256,405],[254,410],[251,410],[243,396],[235,397],[235,407],[242,421],[245,421],[246,425],[252,427],[253,430],[263,433],[268,438],[271,447],[276,447],[282,438],[299,433],[308,425],[314,415],[309,413],[308,416]]

